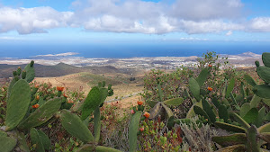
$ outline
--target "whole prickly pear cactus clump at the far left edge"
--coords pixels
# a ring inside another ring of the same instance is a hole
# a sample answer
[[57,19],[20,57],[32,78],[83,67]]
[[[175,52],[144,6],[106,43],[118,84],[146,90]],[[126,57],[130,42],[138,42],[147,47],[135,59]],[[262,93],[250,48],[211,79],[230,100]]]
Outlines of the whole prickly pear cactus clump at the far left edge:
[[[49,121],[49,119],[60,109],[62,98],[54,98],[48,102],[40,104],[36,111],[32,111],[31,101],[37,89],[31,90],[29,83],[34,79],[34,62],[31,61],[22,71],[18,67],[14,71],[14,78],[8,88],[5,126],[0,130],[0,145],[4,152],[30,151],[24,138],[24,133],[30,132],[31,144],[39,152],[49,150],[50,141],[47,135],[38,127]],[[22,76],[21,76],[22,75]],[[31,114],[30,114],[31,113]]]

